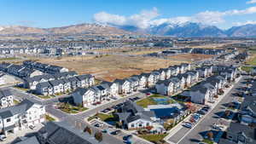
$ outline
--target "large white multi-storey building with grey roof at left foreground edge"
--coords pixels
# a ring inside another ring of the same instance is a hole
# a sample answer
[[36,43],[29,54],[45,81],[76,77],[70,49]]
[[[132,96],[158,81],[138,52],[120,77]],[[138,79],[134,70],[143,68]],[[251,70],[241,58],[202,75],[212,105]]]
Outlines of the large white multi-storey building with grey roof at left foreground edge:
[[29,100],[21,101],[13,107],[0,109],[0,133],[8,135],[24,130],[30,125],[43,123],[45,107]]

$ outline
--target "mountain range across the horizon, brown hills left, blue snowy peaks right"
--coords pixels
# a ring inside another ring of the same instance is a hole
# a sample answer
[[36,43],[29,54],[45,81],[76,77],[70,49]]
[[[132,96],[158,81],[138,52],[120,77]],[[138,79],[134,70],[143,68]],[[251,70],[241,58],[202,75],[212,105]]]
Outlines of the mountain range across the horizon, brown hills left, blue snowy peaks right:
[[29,26],[0,26],[0,35],[29,34],[153,34],[172,37],[256,37],[256,25],[233,26],[222,30],[217,26],[187,22],[182,24],[163,23],[141,29],[137,26],[113,26],[101,24],[79,24],[53,28]]

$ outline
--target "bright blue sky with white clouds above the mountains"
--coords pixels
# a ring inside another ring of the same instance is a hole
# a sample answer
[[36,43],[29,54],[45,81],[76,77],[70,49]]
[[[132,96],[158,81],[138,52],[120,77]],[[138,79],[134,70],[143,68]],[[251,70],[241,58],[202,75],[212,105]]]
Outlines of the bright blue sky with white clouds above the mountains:
[[0,18],[0,26],[101,22],[147,28],[192,21],[229,28],[256,24],[256,0],[1,0]]

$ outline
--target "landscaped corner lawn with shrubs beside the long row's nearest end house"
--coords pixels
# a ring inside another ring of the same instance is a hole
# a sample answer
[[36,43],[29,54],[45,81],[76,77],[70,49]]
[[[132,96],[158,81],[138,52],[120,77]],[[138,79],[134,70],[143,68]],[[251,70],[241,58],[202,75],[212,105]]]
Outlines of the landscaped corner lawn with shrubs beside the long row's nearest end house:
[[87,110],[87,107],[77,107],[73,106],[69,103],[59,103],[57,106],[61,111],[67,112],[67,113],[79,113],[79,112],[84,112]]

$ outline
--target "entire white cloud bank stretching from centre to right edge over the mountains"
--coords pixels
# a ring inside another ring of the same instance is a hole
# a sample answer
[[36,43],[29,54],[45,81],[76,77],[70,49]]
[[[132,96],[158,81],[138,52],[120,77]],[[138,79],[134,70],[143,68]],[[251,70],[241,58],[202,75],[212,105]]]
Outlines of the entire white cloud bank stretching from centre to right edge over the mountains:
[[158,9],[143,10],[139,14],[131,16],[122,16],[118,14],[108,14],[100,12],[94,14],[94,20],[103,24],[111,24],[116,26],[137,26],[139,28],[148,28],[148,26],[159,26],[164,23],[182,24],[185,22],[199,22],[207,25],[218,25],[225,22],[225,17],[243,14],[255,14],[256,7],[247,9],[231,9],[227,11],[204,11],[191,16],[178,16],[172,18],[157,19],[160,15]]

